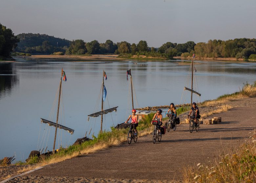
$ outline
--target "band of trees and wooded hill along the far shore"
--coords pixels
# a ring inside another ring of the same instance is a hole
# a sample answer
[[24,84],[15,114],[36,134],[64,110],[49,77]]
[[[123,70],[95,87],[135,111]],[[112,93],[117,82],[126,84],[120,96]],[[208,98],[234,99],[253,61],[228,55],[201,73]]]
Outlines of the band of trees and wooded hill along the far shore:
[[207,43],[188,41],[186,43],[166,42],[159,48],[149,47],[146,41],[129,43],[126,41],[114,43],[107,40],[99,43],[97,40],[65,40],[46,34],[22,33],[14,36],[11,29],[0,24],[0,56],[10,57],[11,51],[29,54],[119,54],[121,57],[147,56],[155,58],[173,58],[175,56],[204,58],[255,58],[256,39],[209,40]]

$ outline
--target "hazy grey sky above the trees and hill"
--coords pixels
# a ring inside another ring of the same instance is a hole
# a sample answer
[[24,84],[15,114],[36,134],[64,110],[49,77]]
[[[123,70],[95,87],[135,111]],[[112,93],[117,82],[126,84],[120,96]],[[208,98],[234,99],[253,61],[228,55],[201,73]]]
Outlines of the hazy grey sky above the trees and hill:
[[256,0],[0,0],[13,33],[85,42],[207,42],[256,38]]

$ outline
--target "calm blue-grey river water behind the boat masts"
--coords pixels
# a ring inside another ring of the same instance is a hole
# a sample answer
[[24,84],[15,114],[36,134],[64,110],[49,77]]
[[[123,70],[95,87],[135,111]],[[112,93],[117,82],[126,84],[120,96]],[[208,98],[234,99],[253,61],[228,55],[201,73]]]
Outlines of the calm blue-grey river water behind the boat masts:
[[[66,73],[67,82],[63,82],[64,112],[60,112],[60,120],[75,132],[71,135],[64,130],[58,131],[56,146],[73,144],[77,138],[84,137],[86,131],[88,134],[91,128],[90,138],[93,131],[95,135],[98,133],[100,117],[90,118],[88,122],[87,115],[100,110],[100,106],[96,108],[96,103],[103,69],[108,78],[105,81],[105,108],[118,106],[117,113],[105,115],[103,126],[106,130],[126,120],[132,108],[128,101],[128,69],[132,70],[139,107],[190,102],[190,94],[183,92],[187,83],[190,87],[190,79],[186,82],[190,65],[181,65],[180,60],[136,61],[137,65],[134,62],[63,62],[23,58],[12,63],[0,62],[0,159],[16,155],[17,161],[23,161],[31,150],[42,149],[43,145],[52,150],[54,129],[46,124],[41,125],[40,118],[49,119],[61,67]],[[200,64],[195,65],[195,85],[198,84],[198,92],[202,96],[194,101],[215,99],[239,91],[246,81],[253,83],[256,80],[255,63],[197,63]],[[138,107],[136,102],[135,106]],[[56,122],[56,108],[51,117]]]

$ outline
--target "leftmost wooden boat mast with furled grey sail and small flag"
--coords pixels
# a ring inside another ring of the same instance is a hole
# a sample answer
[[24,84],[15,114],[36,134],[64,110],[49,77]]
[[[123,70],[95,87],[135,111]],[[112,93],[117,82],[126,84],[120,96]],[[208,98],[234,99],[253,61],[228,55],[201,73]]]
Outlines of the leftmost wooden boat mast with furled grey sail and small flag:
[[[62,76],[63,76],[63,81],[67,81],[65,72],[64,72],[63,69],[61,68],[61,76],[60,76],[60,83],[59,83],[59,89],[58,89],[58,91],[59,91],[59,92],[58,92],[58,93],[59,93],[59,97],[58,97],[58,109],[57,109],[57,119],[56,119],[56,123],[41,118],[41,123],[47,123],[49,126],[55,126],[55,135],[54,135],[54,141],[53,141],[53,153],[55,152],[55,142],[56,142],[57,128],[67,130],[70,134],[73,134],[73,133],[74,133],[74,130],[73,130],[73,129],[58,124],[58,119],[59,119],[59,106],[60,106],[60,105],[59,105],[59,104],[60,104],[60,95],[61,95],[61,91],[62,91],[62,90],[61,90],[61,87],[62,87]],[[46,149],[45,149],[45,150],[46,150]]]

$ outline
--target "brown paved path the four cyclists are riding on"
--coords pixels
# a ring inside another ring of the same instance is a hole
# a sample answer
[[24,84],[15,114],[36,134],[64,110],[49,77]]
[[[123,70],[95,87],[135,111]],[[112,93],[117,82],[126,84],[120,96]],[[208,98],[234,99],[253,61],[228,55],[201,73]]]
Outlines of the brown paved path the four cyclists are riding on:
[[[182,170],[229,152],[256,128],[256,98],[243,108],[220,113],[219,125],[201,125],[189,133],[188,124],[166,132],[153,144],[152,135],[95,154],[47,165],[29,175],[44,177],[96,177],[115,179],[181,180]],[[242,112],[243,110],[243,112]],[[209,118],[211,118],[210,116]]]

